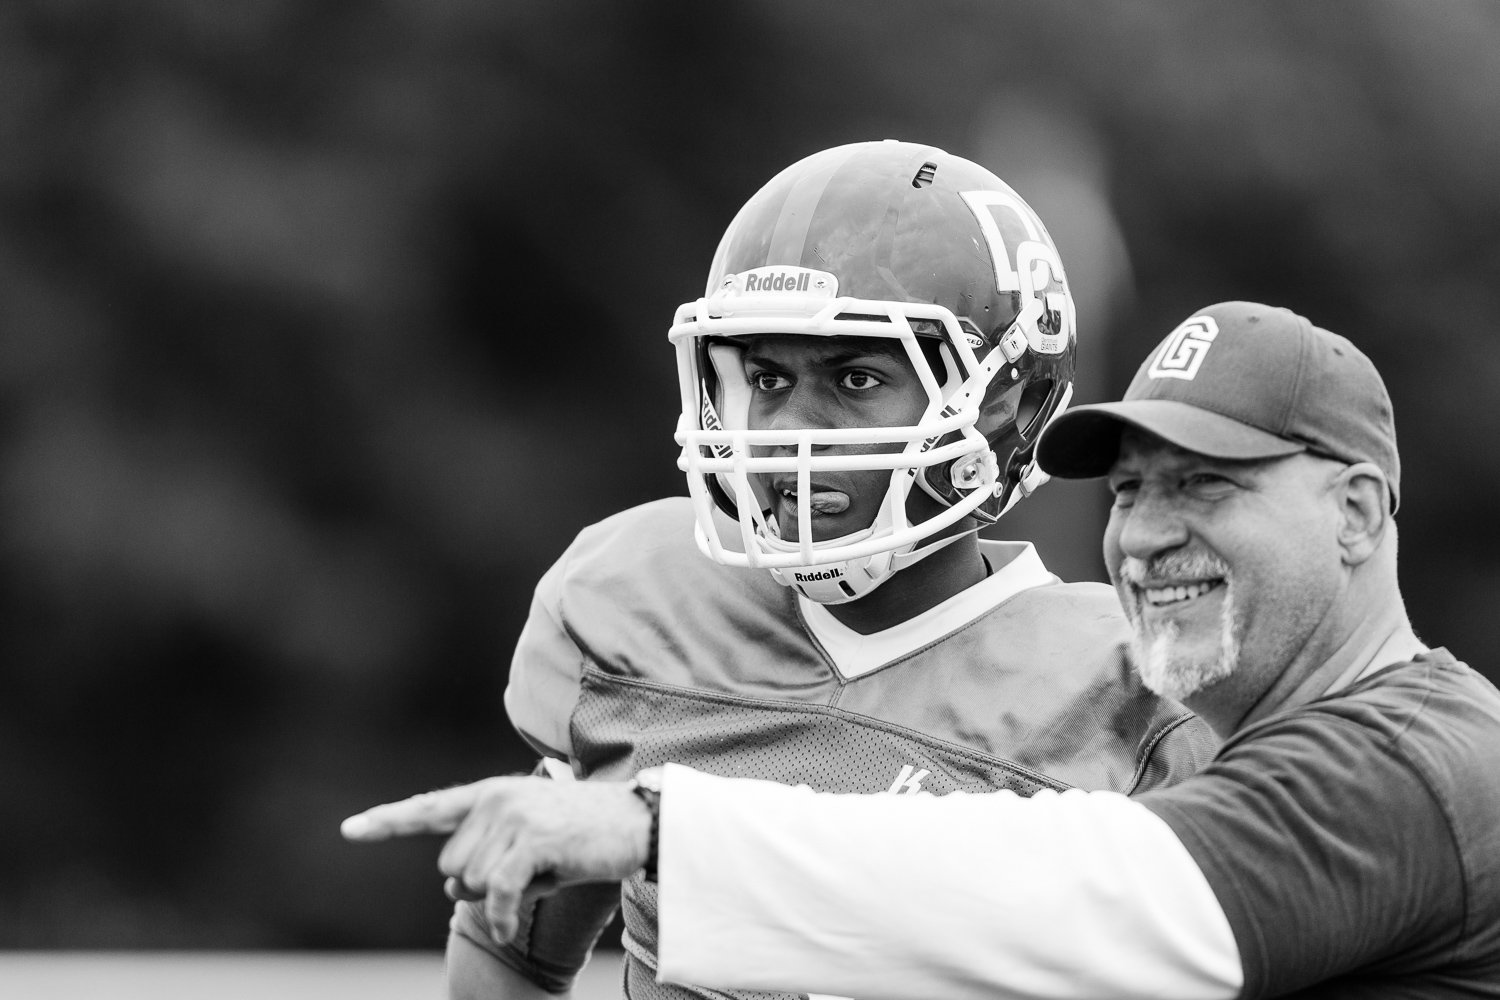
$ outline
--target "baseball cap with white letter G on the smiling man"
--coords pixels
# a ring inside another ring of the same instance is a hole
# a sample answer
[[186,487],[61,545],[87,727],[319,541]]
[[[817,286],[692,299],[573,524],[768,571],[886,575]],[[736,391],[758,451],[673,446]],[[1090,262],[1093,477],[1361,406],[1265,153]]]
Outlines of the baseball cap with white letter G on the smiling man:
[[1059,478],[1106,475],[1126,426],[1215,459],[1308,451],[1371,462],[1390,481],[1392,508],[1401,489],[1380,372],[1347,339],[1290,309],[1226,301],[1192,313],[1146,357],[1125,399],[1053,420],[1036,463]]

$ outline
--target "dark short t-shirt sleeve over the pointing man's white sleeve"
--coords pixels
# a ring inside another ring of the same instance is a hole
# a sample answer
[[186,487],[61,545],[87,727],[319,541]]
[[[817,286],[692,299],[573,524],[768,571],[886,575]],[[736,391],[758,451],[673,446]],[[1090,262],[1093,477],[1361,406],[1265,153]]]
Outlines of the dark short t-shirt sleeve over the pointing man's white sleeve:
[[1388,733],[1298,715],[1136,801],[1172,826],[1218,897],[1242,997],[1420,964],[1461,930],[1448,819]]

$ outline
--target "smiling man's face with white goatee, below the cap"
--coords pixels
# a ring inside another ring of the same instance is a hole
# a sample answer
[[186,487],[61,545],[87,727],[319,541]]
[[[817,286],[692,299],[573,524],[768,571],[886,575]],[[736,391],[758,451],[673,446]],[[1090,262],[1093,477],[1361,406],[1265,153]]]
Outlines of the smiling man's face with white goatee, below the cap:
[[1149,688],[1248,711],[1292,663],[1346,586],[1329,490],[1341,468],[1210,459],[1125,430],[1104,559]]

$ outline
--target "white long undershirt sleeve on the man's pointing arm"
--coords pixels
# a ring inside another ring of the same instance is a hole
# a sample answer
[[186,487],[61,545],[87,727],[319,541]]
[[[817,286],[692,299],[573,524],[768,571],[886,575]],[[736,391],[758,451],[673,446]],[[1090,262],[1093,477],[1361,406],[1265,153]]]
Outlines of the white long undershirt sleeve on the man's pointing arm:
[[1239,949],[1113,792],[820,795],[668,765],[664,982],[858,1000],[1230,1000]]

